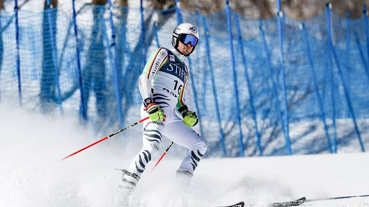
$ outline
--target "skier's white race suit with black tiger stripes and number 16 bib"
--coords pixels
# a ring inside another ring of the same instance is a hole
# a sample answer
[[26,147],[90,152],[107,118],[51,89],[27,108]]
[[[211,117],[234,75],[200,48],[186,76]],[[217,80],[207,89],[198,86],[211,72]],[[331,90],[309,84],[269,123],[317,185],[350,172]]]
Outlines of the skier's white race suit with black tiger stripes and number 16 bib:
[[[143,122],[142,149],[127,169],[138,177],[144,172],[148,162],[153,157],[158,157],[163,136],[189,149],[178,170],[189,172],[191,176],[207,150],[204,138],[176,115],[176,110],[180,113],[189,110],[185,101],[189,72],[183,60],[184,56],[176,49],[159,48],[151,55],[139,78],[142,98],[153,98],[164,110],[164,119],[155,122],[147,119]],[[144,109],[142,104],[142,119],[148,116]],[[132,180],[129,175],[124,175],[123,178]]]

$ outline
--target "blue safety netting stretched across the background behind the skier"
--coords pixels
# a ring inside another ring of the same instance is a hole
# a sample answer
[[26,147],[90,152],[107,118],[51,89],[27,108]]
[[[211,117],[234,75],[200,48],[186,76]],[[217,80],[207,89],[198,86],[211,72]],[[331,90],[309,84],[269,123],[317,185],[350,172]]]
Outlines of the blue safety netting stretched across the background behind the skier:
[[325,10],[308,21],[281,15],[278,24],[278,16],[251,20],[227,8],[200,15],[75,1],[0,13],[0,22],[0,101],[79,114],[97,131],[117,131],[140,119],[146,60],[171,48],[173,29],[189,22],[200,41],[186,59],[186,96],[207,156],[369,146],[365,15],[350,20]]

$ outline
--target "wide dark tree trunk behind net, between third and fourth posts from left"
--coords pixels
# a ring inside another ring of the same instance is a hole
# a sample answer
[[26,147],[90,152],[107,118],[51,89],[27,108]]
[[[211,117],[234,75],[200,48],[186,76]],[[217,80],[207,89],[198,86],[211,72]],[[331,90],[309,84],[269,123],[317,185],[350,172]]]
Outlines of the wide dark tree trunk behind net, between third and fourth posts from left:
[[106,47],[104,46],[104,13],[106,8],[104,7],[107,0],[93,0],[92,1],[92,14],[93,25],[91,36],[89,37],[89,48],[86,53],[86,67],[83,69],[82,75],[82,88],[84,95],[84,106],[86,110],[87,103],[90,98],[90,90],[95,92],[96,97],[96,110],[97,117],[103,121],[107,116],[106,111]]

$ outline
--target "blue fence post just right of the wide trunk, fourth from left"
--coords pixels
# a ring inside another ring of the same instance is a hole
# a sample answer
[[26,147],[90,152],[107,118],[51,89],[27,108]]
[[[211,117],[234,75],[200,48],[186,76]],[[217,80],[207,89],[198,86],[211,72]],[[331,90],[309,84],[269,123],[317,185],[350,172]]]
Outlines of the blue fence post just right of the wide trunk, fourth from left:
[[[118,117],[120,125],[123,126],[123,112],[122,112],[122,103],[121,103],[121,95],[120,95],[120,87],[119,87],[119,73],[118,73],[118,60],[117,60],[117,50],[115,46],[115,26],[113,22],[113,12],[111,12],[111,0],[108,0],[109,4],[109,22],[111,28],[111,43],[110,46],[113,49],[113,69],[114,69],[114,86],[115,86],[115,96],[117,99],[118,106]],[[110,50],[110,48],[108,48]]]

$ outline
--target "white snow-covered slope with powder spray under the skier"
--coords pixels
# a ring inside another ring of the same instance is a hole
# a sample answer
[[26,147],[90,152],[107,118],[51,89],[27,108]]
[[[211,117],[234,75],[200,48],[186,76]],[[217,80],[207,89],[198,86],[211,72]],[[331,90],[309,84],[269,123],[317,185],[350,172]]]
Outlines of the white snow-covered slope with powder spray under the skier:
[[[117,206],[121,173],[114,168],[127,167],[141,148],[141,138],[132,138],[140,129],[60,161],[107,134],[83,129],[76,117],[56,119],[0,105],[0,206]],[[171,148],[153,173],[144,172],[129,206],[263,204],[303,196],[336,198],[306,206],[369,206],[368,153],[202,159],[192,185],[183,189],[174,178],[181,161],[177,149]]]

